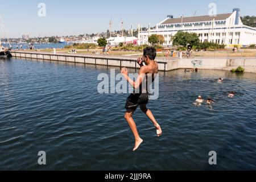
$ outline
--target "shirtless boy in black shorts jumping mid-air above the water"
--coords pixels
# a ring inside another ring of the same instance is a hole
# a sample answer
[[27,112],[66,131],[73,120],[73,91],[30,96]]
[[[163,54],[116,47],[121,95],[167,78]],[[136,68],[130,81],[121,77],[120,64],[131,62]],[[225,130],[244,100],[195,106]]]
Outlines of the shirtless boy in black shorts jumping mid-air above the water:
[[[162,135],[162,129],[154,115],[151,113],[149,109],[147,109],[148,103],[148,86],[151,84],[148,82],[148,77],[152,77],[152,82],[154,82],[156,74],[158,74],[158,63],[155,61],[156,57],[156,49],[154,47],[147,47],[143,50],[143,58],[139,58],[137,60],[138,64],[141,66],[139,70],[139,76],[137,81],[133,81],[129,76],[126,68],[122,68],[121,73],[123,77],[129,82],[133,88],[139,89],[139,93],[132,93],[126,100],[126,113],[125,119],[128,122],[131,131],[133,131],[134,138],[135,138],[135,145],[133,151],[137,150],[139,145],[143,142],[142,138],[139,137],[139,133],[137,131],[137,126],[133,120],[134,111],[137,109],[138,106],[141,107],[143,113],[147,115],[148,118],[152,121],[154,126],[156,127],[156,135],[160,137]],[[146,81],[147,88],[143,88],[142,82]]]

